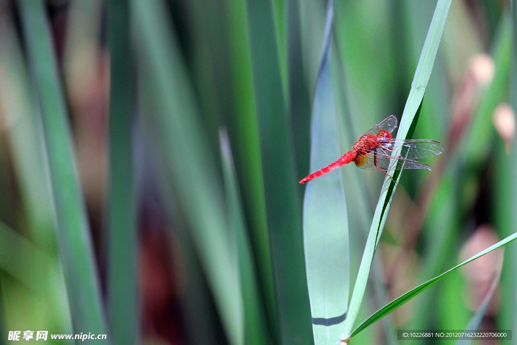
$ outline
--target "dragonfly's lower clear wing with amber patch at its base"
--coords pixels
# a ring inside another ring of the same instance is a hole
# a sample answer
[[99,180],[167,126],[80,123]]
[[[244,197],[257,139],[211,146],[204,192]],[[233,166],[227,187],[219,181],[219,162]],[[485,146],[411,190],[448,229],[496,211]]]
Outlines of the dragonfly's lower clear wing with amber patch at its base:
[[390,169],[427,169],[431,170],[428,164],[416,160],[404,159],[401,157],[390,157],[383,153],[381,148],[376,148],[366,155],[358,155],[355,159],[356,166],[367,170],[381,170],[388,172]]

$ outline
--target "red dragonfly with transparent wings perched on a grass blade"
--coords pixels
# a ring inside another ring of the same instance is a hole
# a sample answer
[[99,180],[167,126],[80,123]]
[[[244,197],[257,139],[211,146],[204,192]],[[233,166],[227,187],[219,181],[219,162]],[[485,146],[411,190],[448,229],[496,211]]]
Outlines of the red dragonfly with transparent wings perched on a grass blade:
[[[332,170],[354,161],[361,169],[378,170],[388,175],[389,169],[427,169],[428,164],[414,159],[428,158],[444,152],[444,146],[435,140],[413,139],[401,140],[391,137],[391,132],[397,128],[397,117],[390,115],[383,122],[370,128],[364,136],[355,142],[352,149],[337,161],[329,164],[315,173],[303,178],[300,183],[306,183],[316,177],[325,175]],[[391,156],[396,148],[401,148],[398,156]]]

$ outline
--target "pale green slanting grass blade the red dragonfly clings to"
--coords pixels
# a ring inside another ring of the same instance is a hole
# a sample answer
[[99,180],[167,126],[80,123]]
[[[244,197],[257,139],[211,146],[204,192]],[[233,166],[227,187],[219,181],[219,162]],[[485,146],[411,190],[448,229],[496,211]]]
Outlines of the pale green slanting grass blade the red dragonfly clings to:
[[[429,32],[424,42],[422,53],[418,61],[418,66],[415,71],[412,87],[409,91],[406,106],[402,114],[402,121],[397,132],[398,139],[406,139],[409,127],[413,124],[415,114],[422,102],[425,87],[427,86],[431,76],[431,70],[433,68],[434,59],[438,50],[438,44],[440,42],[440,38],[442,37],[450,3],[451,0],[438,0],[438,3],[436,4],[431,26],[429,27]],[[396,178],[397,181],[399,181],[400,173],[393,174],[393,171],[390,171],[389,174]],[[357,318],[359,307],[364,296],[364,290],[366,289],[366,283],[368,281],[373,255],[375,253],[379,238],[381,238],[382,230],[384,228],[384,224],[386,222],[391,205],[391,200],[397,188],[397,185],[392,185],[391,182],[392,181],[389,177],[385,178],[381,196],[379,197],[377,207],[375,208],[372,226],[368,235],[366,248],[364,249],[361,265],[359,267],[359,273],[354,287],[354,292],[352,293],[348,315],[346,318],[344,329],[344,334],[346,336],[349,335],[354,325],[355,319]]]

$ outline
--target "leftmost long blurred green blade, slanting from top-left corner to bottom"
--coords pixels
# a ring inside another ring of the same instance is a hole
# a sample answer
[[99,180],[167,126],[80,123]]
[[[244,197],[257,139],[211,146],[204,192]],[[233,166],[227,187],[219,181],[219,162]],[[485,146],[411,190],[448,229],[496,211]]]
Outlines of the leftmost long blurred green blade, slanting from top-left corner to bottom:
[[20,0],[18,4],[43,117],[58,243],[74,332],[105,334],[94,251],[75,173],[68,116],[45,9],[41,1]]

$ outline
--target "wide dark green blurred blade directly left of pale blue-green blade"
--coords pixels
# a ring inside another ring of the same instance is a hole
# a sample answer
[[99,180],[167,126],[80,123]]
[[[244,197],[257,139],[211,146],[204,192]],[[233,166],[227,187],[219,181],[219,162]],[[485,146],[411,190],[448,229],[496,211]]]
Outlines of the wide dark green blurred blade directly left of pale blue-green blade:
[[312,339],[300,198],[271,1],[247,1],[264,194],[281,343]]

